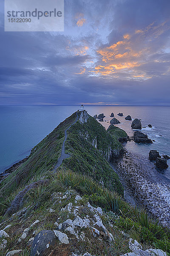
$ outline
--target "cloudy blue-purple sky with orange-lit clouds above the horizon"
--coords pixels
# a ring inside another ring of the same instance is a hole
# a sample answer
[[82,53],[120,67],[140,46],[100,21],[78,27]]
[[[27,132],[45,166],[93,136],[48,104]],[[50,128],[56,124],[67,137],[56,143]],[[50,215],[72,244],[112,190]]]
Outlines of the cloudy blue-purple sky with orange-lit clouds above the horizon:
[[170,0],[65,0],[64,32],[4,32],[0,105],[170,105]]

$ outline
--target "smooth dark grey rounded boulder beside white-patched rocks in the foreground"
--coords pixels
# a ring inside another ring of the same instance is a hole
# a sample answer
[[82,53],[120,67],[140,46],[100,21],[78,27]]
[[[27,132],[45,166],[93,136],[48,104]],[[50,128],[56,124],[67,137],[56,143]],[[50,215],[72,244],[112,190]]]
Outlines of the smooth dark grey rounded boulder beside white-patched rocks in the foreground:
[[[58,231],[59,232],[59,231]],[[42,230],[35,236],[31,246],[31,255],[34,256],[48,256],[54,247],[56,237],[51,230]]]

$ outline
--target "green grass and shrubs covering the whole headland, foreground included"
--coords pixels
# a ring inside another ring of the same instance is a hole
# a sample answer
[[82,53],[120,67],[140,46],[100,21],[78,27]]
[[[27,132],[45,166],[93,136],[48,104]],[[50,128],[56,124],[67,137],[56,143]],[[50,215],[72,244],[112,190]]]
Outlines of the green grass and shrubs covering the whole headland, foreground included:
[[[87,114],[83,114],[86,118]],[[125,131],[114,125],[108,128],[109,132],[105,131],[105,128],[91,116],[88,116],[87,122],[76,122],[68,130],[68,139],[65,143],[65,153],[71,154],[71,157],[63,161],[57,172],[52,171],[61,152],[65,128],[75,119],[76,113],[60,123],[32,149],[28,160],[0,184],[0,221],[6,221],[0,224],[0,229],[11,224],[6,230],[10,235],[10,238],[7,238],[8,246],[0,250],[0,256],[6,255],[9,250],[17,249],[23,249],[21,256],[29,256],[28,240],[33,236],[33,232],[36,235],[41,230],[54,230],[56,221],[59,224],[68,218],[75,218],[73,212],[62,211],[69,203],[75,207],[79,206],[81,218],[86,218],[87,215],[92,218],[92,212],[87,207],[88,202],[103,209],[102,222],[113,234],[114,242],[108,243],[105,239],[94,238],[91,230],[86,227],[83,229],[83,241],[71,235],[71,241],[74,246],[76,244],[77,250],[88,251],[96,256],[119,256],[130,252],[130,237],[146,249],[161,249],[170,256],[170,230],[161,227],[158,220],[148,217],[143,208],[133,207],[123,200],[123,188],[119,177],[108,163],[110,156],[117,157],[121,154],[122,145],[118,138],[120,134],[121,137],[126,137]],[[20,191],[40,180],[46,182],[38,183],[23,194],[20,210],[23,207],[27,210],[22,218],[18,214],[12,217],[3,216]],[[63,197],[68,191],[69,196]],[[76,203],[77,194],[81,195],[82,199]],[[36,220],[40,220],[40,223],[31,227],[26,239],[18,245],[17,241],[21,234],[15,233],[16,230],[24,230]],[[67,235],[70,236],[68,233]],[[56,246],[59,246],[59,243]]]

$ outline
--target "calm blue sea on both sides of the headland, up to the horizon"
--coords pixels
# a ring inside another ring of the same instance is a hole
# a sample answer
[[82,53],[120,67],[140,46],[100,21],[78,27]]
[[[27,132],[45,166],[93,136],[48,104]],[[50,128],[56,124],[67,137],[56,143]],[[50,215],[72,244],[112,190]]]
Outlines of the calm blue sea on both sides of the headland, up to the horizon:
[[[79,106],[0,106],[0,172],[28,156],[31,148],[39,143],[60,122],[76,111]],[[128,142],[126,148],[133,154],[148,158],[151,149],[160,154],[170,155],[170,106],[85,106],[91,116],[104,113],[102,124],[108,128],[111,112],[119,119],[117,125],[129,136],[133,135],[131,121],[125,120],[130,115],[132,119],[142,119],[142,128],[153,144],[142,145]],[[122,112],[124,116],[117,116]],[[153,128],[147,127],[151,124]],[[167,161],[170,166],[170,160]],[[170,179],[170,168],[161,171],[161,175]]]

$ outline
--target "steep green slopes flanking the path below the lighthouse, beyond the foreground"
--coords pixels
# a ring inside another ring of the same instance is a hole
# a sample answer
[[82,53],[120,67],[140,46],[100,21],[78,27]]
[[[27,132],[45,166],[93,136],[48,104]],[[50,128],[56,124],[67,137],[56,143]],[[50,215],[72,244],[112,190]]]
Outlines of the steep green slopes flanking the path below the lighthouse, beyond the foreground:
[[[118,156],[121,153],[122,145],[114,140],[93,117],[85,111],[82,114],[86,116],[87,122],[83,124],[81,113],[79,113],[80,120],[67,131],[65,153],[68,151],[71,158],[68,161],[65,160],[65,165],[78,172],[89,173],[89,175],[92,175],[94,169],[95,171],[97,169],[96,177],[104,181],[110,180],[109,176],[113,175],[113,186],[115,186],[116,191],[122,193],[123,189],[119,178],[107,163],[109,157]],[[76,118],[77,113],[75,112],[31,150],[26,162],[21,164],[0,184],[1,197],[9,196],[16,189],[26,185],[34,175],[40,175],[54,168],[61,154],[65,129],[75,122]],[[95,140],[97,140],[97,149],[94,146]],[[78,158],[78,154],[81,154],[81,157]],[[93,155],[93,161],[91,161],[91,155]]]

